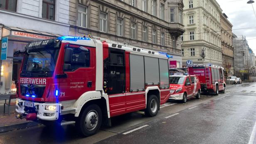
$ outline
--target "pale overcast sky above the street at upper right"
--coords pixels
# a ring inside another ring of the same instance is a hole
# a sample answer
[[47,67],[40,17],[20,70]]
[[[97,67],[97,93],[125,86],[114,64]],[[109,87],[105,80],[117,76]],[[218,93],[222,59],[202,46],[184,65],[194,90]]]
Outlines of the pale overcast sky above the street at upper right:
[[[254,15],[254,10],[256,10],[256,0],[251,4],[247,4],[248,0],[217,0],[222,12],[225,13],[229,18],[229,22],[233,25],[232,30],[237,37],[241,35],[245,36],[249,47],[253,49],[254,54],[256,54],[256,16]],[[255,11],[256,12],[256,11]],[[247,27],[254,27],[251,29],[241,29]]]

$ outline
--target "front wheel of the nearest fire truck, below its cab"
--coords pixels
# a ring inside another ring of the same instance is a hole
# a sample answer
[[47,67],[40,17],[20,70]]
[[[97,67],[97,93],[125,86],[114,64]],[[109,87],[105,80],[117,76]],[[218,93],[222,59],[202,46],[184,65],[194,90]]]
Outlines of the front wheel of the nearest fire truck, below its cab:
[[[90,123],[88,121],[90,121]],[[92,104],[87,106],[79,115],[76,120],[76,129],[78,129],[82,136],[89,137],[98,132],[101,123],[101,108],[96,104]]]

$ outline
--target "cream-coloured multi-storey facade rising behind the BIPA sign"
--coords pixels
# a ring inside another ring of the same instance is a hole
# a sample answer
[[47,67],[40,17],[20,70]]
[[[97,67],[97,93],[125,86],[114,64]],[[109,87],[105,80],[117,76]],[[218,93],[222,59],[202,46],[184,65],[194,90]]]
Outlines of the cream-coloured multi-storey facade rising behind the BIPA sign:
[[214,64],[222,66],[221,24],[222,9],[216,0],[183,0],[182,65]]

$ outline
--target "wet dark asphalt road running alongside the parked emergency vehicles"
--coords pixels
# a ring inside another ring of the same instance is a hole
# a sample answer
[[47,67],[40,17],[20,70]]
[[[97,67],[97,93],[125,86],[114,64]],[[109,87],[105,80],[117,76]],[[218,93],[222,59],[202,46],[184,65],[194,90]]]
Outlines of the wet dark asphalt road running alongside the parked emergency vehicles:
[[[163,105],[156,117],[145,117],[139,112],[115,117],[112,127],[102,127],[91,137],[79,137],[72,125],[39,125],[0,133],[0,144],[248,144],[256,122],[255,111],[256,83],[232,85],[219,96],[192,98],[186,104],[171,101]],[[133,131],[138,127],[143,128]]]

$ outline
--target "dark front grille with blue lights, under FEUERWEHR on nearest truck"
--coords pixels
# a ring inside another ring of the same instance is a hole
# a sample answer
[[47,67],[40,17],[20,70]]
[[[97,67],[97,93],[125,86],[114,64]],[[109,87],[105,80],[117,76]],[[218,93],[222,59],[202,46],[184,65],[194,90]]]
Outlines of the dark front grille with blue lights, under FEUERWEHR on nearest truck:
[[44,94],[45,85],[31,85],[23,84],[20,85],[20,93],[23,96],[42,98]]

